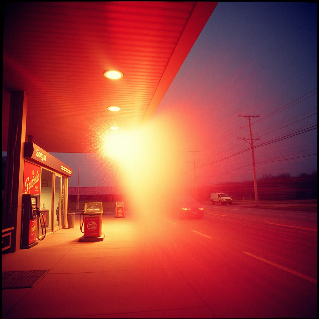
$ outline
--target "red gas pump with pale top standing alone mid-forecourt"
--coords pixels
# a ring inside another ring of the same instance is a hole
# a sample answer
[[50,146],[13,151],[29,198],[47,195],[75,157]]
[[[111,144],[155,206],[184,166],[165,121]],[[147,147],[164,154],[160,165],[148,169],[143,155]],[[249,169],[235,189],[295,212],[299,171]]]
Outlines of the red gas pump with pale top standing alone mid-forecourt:
[[[79,241],[103,241],[105,234],[102,234],[102,203],[85,203],[83,215],[83,222],[81,225],[80,216],[80,230],[84,234]],[[84,225],[84,230],[82,231]]]

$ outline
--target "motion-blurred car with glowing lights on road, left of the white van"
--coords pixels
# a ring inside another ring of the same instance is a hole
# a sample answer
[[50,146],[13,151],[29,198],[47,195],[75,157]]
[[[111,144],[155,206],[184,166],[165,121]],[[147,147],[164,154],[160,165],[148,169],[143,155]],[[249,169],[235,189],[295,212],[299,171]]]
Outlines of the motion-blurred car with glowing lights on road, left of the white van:
[[175,197],[171,201],[170,210],[172,215],[177,219],[197,218],[204,216],[204,207],[199,204],[195,198],[188,196]]

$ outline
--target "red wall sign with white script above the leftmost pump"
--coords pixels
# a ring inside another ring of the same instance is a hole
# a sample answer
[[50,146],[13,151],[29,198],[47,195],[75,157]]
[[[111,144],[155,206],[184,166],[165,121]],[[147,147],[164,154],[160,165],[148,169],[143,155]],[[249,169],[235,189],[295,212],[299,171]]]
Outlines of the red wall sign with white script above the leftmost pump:
[[23,194],[40,194],[41,167],[24,161]]

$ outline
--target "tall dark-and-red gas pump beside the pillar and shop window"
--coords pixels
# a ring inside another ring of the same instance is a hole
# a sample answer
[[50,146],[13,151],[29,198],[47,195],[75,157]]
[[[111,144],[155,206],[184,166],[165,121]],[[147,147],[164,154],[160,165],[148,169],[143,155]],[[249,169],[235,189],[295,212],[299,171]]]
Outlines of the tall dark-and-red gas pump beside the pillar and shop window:
[[37,209],[39,195],[22,195],[21,249],[28,249],[38,244],[36,239]]

